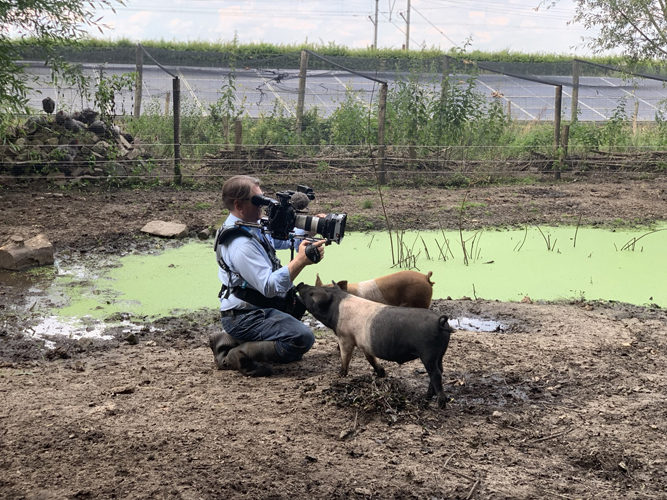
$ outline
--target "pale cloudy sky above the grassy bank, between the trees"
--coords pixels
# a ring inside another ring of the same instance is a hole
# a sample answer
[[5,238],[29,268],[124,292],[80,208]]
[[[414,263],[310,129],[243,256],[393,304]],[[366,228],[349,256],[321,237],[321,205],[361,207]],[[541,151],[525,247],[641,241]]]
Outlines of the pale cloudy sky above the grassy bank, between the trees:
[[[373,44],[375,0],[127,0],[104,38],[230,41],[293,44],[336,43],[351,48]],[[422,45],[469,50],[586,56],[581,37],[591,35],[574,16],[571,0],[555,8],[540,0],[412,0],[410,49]],[[407,0],[379,0],[378,46],[401,48],[406,41]],[[100,37],[99,33],[94,36]]]

